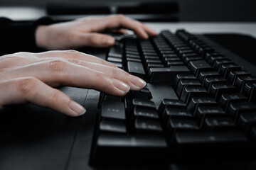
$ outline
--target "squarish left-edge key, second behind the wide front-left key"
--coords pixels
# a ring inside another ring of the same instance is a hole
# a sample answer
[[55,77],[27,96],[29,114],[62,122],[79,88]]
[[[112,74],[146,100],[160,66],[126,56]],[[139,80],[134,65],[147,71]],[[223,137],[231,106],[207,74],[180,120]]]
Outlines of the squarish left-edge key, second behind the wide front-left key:
[[103,101],[100,112],[102,118],[125,120],[124,103],[120,101]]

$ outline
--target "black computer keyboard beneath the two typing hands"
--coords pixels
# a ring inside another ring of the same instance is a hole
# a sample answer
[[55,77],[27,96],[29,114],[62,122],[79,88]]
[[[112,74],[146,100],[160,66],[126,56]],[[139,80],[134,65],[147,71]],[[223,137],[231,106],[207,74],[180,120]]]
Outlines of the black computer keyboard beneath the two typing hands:
[[124,38],[107,61],[147,85],[124,97],[100,95],[91,164],[255,155],[256,77],[196,35]]

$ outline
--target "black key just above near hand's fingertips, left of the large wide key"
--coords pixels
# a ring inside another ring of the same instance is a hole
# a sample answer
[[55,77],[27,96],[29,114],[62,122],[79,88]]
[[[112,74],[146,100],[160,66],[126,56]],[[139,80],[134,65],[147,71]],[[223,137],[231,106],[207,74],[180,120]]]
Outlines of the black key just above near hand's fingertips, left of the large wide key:
[[127,62],[127,72],[139,78],[145,79],[145,72],[141,62]]

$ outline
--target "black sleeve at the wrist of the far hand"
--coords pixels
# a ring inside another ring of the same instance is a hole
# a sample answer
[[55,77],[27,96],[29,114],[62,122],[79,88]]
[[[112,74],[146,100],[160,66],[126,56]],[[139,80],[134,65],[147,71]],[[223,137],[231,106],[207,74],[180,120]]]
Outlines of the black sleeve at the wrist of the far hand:
[[0,55],[14,52],[38,52],[36,47],[35,30],[39,25],[54,23],[45,17],[38,21],[11,21],[0,18]]

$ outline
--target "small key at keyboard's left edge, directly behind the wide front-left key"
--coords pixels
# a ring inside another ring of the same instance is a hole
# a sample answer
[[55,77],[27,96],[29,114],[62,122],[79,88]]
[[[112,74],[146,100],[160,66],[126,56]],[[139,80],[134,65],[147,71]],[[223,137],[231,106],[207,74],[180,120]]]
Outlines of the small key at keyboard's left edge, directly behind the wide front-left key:
[[102,120],[100,122],[100,130],[105,132],[127,132],[127,128],[124,123],[114,120]]

